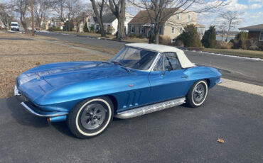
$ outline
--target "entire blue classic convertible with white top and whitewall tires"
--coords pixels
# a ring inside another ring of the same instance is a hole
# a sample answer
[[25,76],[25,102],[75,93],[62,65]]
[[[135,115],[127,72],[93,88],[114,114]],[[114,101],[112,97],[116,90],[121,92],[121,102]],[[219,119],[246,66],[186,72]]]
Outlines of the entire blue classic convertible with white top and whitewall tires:
[[33,115],[66,120],[76,137],[99,135],[113,116],[132,118],[187,103],[201,106],[222,82],[176,47],[133,43],[109,62],[44,64],[16,78],[15,95]]

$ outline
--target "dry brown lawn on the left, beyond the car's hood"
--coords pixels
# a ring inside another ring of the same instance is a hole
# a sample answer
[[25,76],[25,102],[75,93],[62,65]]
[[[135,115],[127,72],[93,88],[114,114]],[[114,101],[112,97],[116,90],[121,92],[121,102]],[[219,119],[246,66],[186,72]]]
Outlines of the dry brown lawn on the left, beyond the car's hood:
[[[0,38],[29,37],[5,33]],[[0,40],[0,98],[13,96],[18,74],[40,64],[83,60],[109,60],[98,52],[84,52],[41,40]]]

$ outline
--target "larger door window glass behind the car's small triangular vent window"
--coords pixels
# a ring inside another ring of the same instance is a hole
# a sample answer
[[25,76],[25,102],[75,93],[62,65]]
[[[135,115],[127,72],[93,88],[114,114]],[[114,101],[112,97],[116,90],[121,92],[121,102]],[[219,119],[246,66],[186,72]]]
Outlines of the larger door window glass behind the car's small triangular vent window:
[[164,52],[164,68],[171,67],[171,70],[181,69],[181,64],[175,52]]

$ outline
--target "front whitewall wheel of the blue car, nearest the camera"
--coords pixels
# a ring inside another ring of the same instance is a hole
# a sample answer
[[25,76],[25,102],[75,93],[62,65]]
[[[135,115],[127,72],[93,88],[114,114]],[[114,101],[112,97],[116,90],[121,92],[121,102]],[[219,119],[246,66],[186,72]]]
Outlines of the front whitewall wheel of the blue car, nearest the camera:
[[78,103],[68,114],[68,128],[76,137],[94,137],[107,129],[113,113],[113,104],[108,97],[87,99]]

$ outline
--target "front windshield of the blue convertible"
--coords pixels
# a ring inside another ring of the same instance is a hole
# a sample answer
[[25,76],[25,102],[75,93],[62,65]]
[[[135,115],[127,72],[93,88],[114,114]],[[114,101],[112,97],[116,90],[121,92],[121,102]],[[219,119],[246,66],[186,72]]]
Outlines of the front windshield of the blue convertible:
[[119,63],[132,69],[147,70],[157,56],[157,52],[141,50],[134,47],[124,47],[109,62]]

